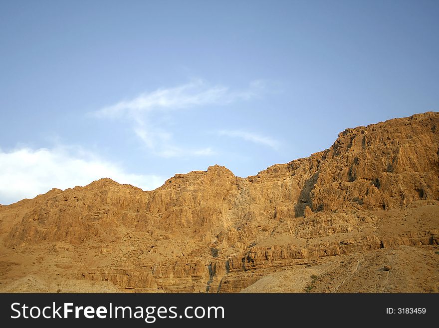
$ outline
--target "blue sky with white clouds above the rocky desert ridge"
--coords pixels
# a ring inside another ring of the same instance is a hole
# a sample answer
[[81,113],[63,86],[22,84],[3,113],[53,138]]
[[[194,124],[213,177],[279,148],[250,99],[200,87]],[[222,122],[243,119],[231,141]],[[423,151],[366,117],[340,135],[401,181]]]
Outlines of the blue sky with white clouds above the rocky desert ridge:
[[439,1],[0,1],[0,204],[235,175],[438,111]]

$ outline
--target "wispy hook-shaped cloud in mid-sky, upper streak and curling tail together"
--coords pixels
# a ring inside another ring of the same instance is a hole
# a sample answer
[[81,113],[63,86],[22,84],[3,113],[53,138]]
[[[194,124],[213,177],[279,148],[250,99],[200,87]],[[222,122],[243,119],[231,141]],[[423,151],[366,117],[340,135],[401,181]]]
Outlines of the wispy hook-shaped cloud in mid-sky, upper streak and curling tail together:
[[[235,101],[247,101],[260,96],[265,90],[263,80],[254,80],[248,87],[231,90],[223,85],[211,85],[203,79],[172,88],[159,88],[144,92],[135,98],[119,101],[94,112],[99,118],[128,118],[133,133],[154,155],[161,157],[210,156],[215,154],[211,147],[177,146],[173,134],[158,122],[164,111],[207,105],[226,105]],[[152,114],[154,112],[154,114]]]

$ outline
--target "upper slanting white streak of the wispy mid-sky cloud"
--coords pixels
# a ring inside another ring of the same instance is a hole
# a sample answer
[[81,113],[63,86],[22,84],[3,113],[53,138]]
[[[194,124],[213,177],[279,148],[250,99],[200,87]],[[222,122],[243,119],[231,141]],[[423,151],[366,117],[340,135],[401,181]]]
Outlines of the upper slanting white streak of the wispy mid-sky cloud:
[[179,109],[209,104],[227,104],[236,100],[249,100],[258,96],[265,84],[263,80],[250,82],[247,89],[230,91],[226,86],[209,85],[203,79],[176,86],[159,88],[152,92],[144,92],[133,99],[119,101],[101,108],[95,114],[98,117],[117,117],[123,114],[137,116],[154,109]]

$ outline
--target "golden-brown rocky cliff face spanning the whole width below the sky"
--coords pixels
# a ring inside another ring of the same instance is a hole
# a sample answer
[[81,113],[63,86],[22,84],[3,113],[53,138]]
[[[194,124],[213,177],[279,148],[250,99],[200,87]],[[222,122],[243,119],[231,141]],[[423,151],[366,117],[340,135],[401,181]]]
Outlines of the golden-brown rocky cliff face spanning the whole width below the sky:
[[[97,282],[138,292],[264,291],[287,270],[302,289],[285,291],[310,291],[309,273],[330,276],[343,257],[420,245],[430,254],[438,123],[428,112],[346,129],[325,151],[247,178],[215,165],[154,191],[101,179],[2,206],[0,289],[26,290],[17,278],[36,275],[49,291],[55,280],[64,291]],[[439,291],[438,258],[426,291]],[[71,279],[78,287],[66,287]]]

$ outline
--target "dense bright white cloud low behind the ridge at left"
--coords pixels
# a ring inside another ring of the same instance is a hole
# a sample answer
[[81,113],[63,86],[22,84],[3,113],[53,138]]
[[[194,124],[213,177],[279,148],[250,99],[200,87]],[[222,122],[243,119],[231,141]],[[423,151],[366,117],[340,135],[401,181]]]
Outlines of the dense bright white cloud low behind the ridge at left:
[[0,204],[33,198],[52,188],[84,186],[100,178],[111,178],[143,190],[161,186],[165,178],[130,174],[118,165],[75,147],[21,148],[0,150]]

